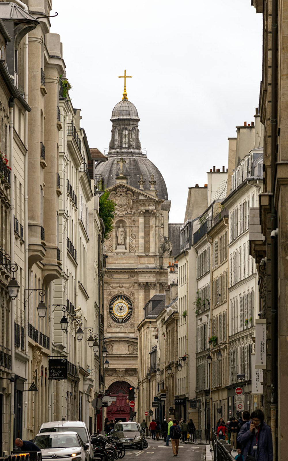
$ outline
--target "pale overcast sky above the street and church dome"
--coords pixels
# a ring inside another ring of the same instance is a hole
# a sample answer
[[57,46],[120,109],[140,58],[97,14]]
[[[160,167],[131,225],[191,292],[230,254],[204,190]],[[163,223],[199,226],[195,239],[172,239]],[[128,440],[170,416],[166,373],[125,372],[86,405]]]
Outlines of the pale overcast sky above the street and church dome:
[[89,146],[108,148],[126,66],[142,148],[165,178],[170,222],[183,222],[187,188],[228,166],[227,138],[259,105],[262,15],[251,0],[53,0],[55,11]]

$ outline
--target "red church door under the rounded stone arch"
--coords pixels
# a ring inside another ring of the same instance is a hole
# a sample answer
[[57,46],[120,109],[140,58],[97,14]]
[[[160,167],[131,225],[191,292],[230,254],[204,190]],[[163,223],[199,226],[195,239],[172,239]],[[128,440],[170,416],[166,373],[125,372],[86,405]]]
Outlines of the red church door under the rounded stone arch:
[[116,402],[112,402],[107,407],[107,418],[116,421],[128,421],[130,415],[130,407],[128,400],[128,388],[131,384],[126,381],[116,381],[108,387],[108,395],[115,397]]

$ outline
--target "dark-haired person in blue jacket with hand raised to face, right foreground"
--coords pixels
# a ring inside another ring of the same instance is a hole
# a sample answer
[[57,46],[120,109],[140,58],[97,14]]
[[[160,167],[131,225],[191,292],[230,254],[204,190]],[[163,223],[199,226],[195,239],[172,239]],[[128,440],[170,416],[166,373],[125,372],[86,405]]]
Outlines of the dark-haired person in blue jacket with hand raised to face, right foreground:
[[273,461],[271,428],[264,423],[262,410],[253,411],[251,421],[241,427],[237,442],[242,445],[241,454],[244,461],[247,455],[254,457],[257,461]]

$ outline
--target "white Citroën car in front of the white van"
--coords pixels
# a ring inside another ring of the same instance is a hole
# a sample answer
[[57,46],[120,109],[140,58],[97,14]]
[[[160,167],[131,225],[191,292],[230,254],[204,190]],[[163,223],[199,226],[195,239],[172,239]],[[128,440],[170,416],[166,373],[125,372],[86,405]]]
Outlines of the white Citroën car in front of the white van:
[[77,432],[41,432],[33,443],[41,449],[42,460],[88,461],[88,443]]

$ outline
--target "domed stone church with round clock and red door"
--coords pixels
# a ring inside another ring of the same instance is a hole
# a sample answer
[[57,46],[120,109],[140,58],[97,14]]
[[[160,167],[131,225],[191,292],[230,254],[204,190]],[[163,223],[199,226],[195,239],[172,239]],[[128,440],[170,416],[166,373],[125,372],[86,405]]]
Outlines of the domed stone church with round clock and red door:
[[105,384],[109,395],[116,396],[107,417],[128,420],[128,387],[136,389],[138,383],[137,325],[147,301],[167,288],[170,201],[160,171],[142,152],[140,118],[125,90],[111,121],[107,161],[95,171],[104,176],[109,199],[116,204],[105,242],[104,337],[110,364]]

